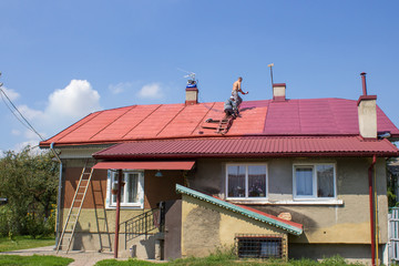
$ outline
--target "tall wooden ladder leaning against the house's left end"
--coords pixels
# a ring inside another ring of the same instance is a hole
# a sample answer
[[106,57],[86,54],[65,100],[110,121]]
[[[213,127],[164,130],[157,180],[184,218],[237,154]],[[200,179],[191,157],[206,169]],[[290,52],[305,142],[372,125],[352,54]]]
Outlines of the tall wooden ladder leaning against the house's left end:
[[[57,244],[57,253],[60,249],[63,249],[62,247],[66,247],[66,253],[71,248],[71,243],[73,238],[74,231],[76,228],[79,215],[82,211],[82,205],[90,185],[91,177],[93,175],[94,168],[88,167],[88,161],[84,163],[84,167],[82,170],[82,174],[79,178],[79,183],[76,186],[75,194],[72,200],[72,204],[70,207],[70,211],[68,213],[65,224],[63,226],[61,237],[59,239],[59,243]],[[65,244],[62,244],[63,239],[68,239]]]

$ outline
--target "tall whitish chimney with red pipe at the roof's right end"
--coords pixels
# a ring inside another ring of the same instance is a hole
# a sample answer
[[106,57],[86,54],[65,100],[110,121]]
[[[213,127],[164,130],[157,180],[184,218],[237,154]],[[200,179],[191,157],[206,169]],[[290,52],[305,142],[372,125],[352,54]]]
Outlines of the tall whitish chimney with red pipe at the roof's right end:
[[364,139],[377,139],[377,95],[367,95],[366,73],[361,74],[362,95],[357,102],[359,132]]

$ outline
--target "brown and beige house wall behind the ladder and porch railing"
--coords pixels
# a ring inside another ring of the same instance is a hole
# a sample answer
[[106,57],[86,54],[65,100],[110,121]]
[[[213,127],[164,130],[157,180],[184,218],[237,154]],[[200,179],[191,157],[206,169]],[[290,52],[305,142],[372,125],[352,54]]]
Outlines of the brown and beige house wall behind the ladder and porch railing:
[[[85,158],[63,160],[61,231],[65,224],[84,163]],[[92,166],[94,161],[89,163],[90,166]],[[149,243],[151,245],[154,244],[153,236],[144,242],[131,241],[125,245],[124,222],[145,211],[157,207],[157,203],[161,201],[181,198],[181,195],[175,193],[175,184],[184,184],[182,171],[162,171],[162,177],[156,177],[156,172],[157,171],[144,172],[144,209],[121,207],[120,212],[120,250],[125,249],[125,247],[129,249],[132,245],[136,245],[136,255],[141,258],[153,258],[154,247],[146,246]],[[106,178],[106,170],[94,170],[75,229],[75,241],[73,243],[75,249],[109,249],[110,242],[112,244],[114,241],[113,233],[115,232],[116,211],[115,208],[105,208]],[[151,233],[155,234],[156,231]],[[143,241],[141,237],[139,238]],[[123,252],[123,254],[125,254],[125,252]]]

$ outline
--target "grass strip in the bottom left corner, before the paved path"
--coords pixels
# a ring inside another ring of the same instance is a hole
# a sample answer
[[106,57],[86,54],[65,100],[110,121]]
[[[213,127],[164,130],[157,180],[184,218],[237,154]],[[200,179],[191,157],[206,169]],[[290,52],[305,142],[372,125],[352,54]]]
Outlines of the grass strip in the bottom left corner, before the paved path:
[[4,266],[63,266],[72,263],[72,258],[55,257],[55,256],[17,256],[17,255],[0,255],[0,265]]

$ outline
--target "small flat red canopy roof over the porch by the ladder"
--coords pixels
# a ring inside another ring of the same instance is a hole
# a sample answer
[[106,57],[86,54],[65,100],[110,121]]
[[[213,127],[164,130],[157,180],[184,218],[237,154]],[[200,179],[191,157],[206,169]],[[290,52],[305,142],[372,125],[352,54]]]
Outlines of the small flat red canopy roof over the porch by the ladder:
[[93,168],[117,170],[191,170],[195,161],[173,162],[100,162]]

